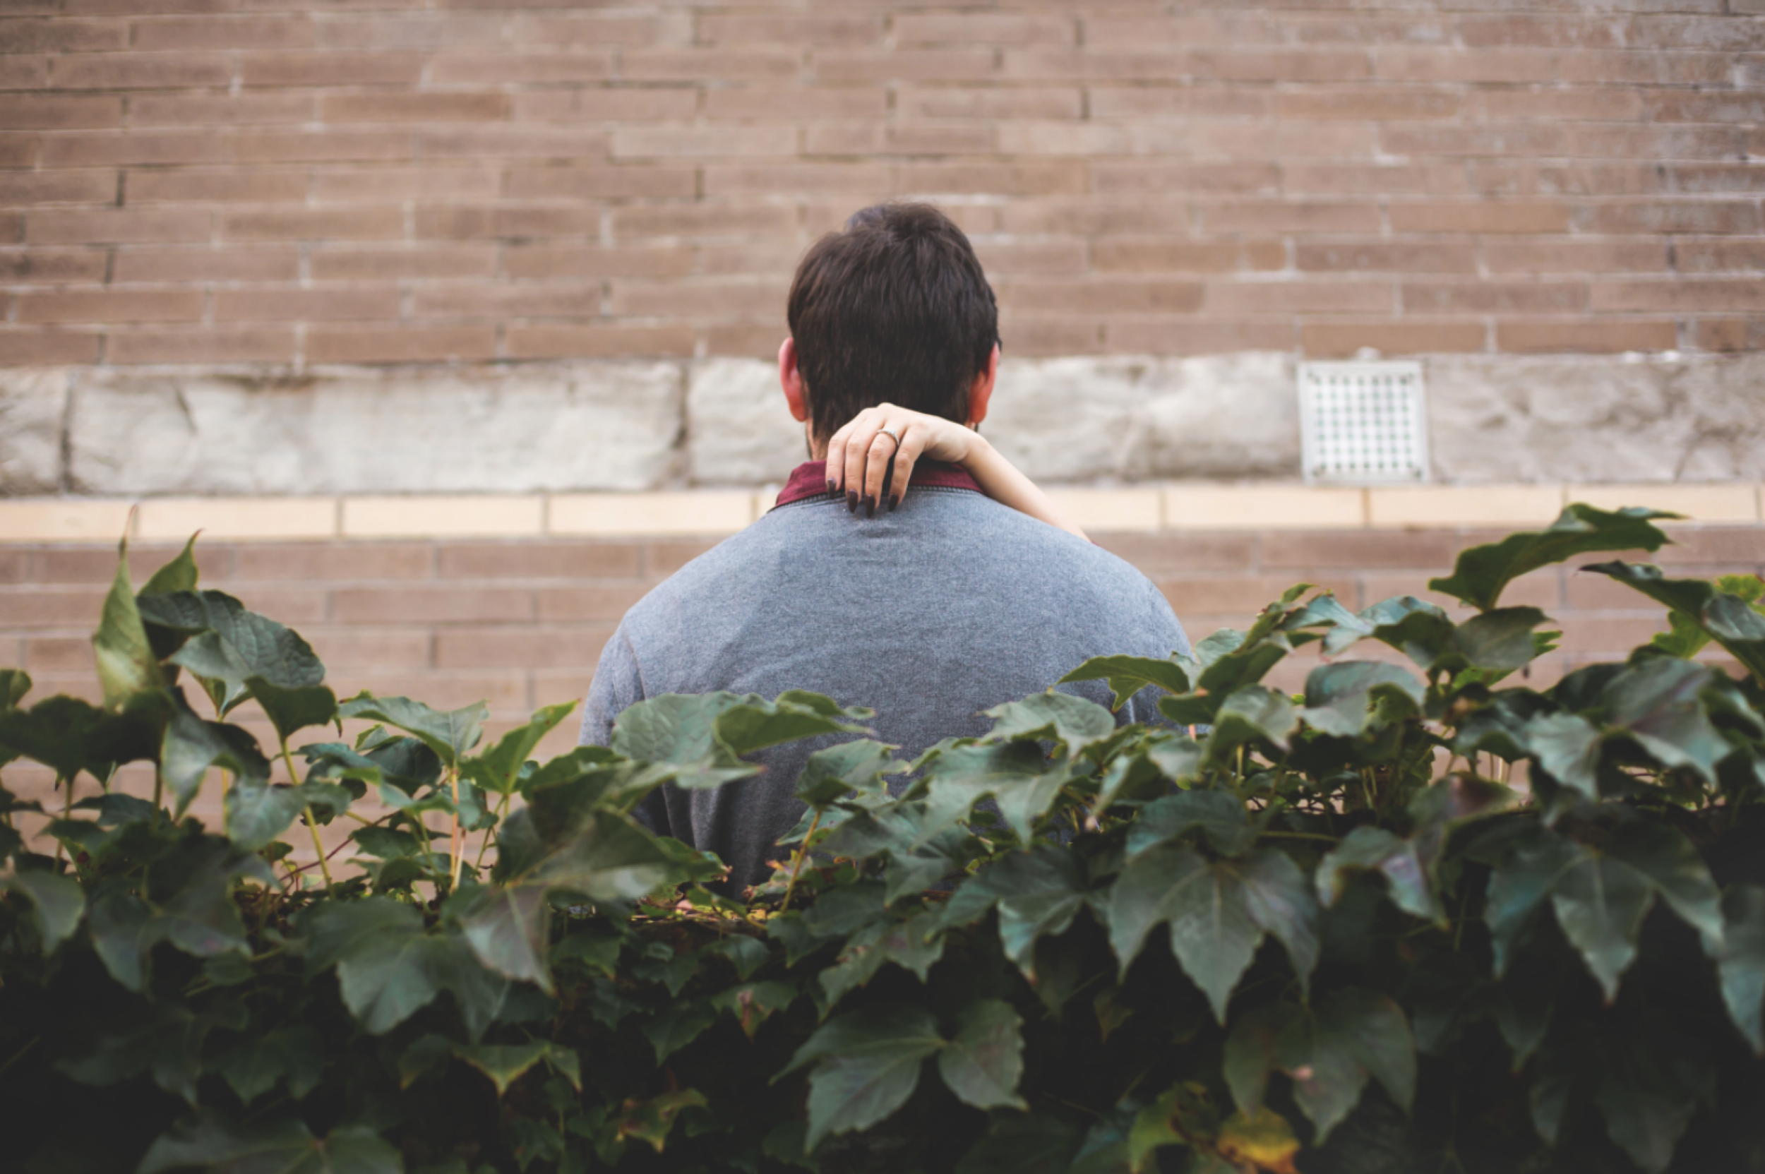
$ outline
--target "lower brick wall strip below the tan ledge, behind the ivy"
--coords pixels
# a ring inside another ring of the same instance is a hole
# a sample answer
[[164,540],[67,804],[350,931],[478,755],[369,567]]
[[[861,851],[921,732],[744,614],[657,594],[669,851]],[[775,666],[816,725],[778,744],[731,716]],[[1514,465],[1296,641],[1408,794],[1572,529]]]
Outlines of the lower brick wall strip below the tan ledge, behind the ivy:
[[[1456,551],[1507,530],[1214,530],[1100,535],[1110,551],[1151,576],[1191,639],[1218,627],[1248,627],[1251,614],[1294,583],[1331,588],[1364,607],[1403,593],[1428,595],[1430,576],[1451,568]],[[1677,546],[1657,554],[1673,574],[1765,572],[1765,526],[1679,526]],[[711,540],[508,542],[208,542],[199,546],[203,583],[235,593],[307,636],[330,669],[328,683],[408,694],[434,706],[489,701],[491,731],[524,720],[535,706],[581,699],[600,648],[625,609]],[[136,583],[176,547],[139,546]],[[23,666],[32,701],[55,692],[97,699],[90,634],[115,574],[111,546],[0,546],[0,667]],[[1532,669],[1543,687],[1576,664],[1622,658],[1652,632],[1663,611],[1601,576],[1553,567],[1516,581],[1509,604],[1546,609],[1566,634],[1562,650]],[[1440,600],[1446,602],[1446,600]],[[837,651],[830,650],[830,655]],[[1363,643],[1359,658],[1398,655]],[[1315,648],[1271,676],[1301,689]],[[1733,664],[1728,671],[1737,673]],[[842,701],[861,701],[844,697]],[[240,711],[251,726],[252,708]],[[574,745],[574,724],[542,752]],[[268,741],[268,729],[256,731]],[[49,779],[30,766],[5,768],[5,784],[49,798]],[[81,784],[90,787],[90,780]],[[214,816],[210,794],[199,814]],[[341,835],[341,830],[339,830]]]

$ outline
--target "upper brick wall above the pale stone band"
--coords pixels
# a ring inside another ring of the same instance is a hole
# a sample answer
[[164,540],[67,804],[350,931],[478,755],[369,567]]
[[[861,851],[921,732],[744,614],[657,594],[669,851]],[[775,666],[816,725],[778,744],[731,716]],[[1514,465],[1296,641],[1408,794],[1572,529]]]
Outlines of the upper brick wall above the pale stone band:
[[764,355],[886,196],[1020,355],[1765,344],[1760,0],[9,0],[0,90],[0,364]]

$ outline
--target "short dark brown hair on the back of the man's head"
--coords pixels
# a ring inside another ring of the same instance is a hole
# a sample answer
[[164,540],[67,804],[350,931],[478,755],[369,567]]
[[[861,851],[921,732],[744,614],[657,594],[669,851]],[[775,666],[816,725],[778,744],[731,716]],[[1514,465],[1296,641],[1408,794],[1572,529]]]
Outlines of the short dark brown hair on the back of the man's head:
[[882,403],[964,424],[999,339],[969,238],[925,203],[863,208],[810,245],[785,312],[819,440]]

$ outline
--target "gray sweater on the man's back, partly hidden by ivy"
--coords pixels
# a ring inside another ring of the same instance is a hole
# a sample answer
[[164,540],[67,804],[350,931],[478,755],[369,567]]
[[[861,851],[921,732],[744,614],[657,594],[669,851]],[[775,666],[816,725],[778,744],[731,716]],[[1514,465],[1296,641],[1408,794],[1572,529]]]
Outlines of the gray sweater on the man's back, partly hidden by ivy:
[[[646,697],[727,689],[828,694],[877,711],[877,738],[916,756],[990,729],[981,710],[1040,692],[1087,657],[1190,651],[1138,570],[980,493],[913,487],[867,519],[828,494],[780,505],[637,602],[607,641],[582,745],[607,745]],[[1061,685],[1108,704],[1101,681]],[[1158,720],[1151,692],[1123,722]],[[715,791],[665,787],[639,817],[717,853],[729,886],[759,884],[803,812],[796,777],[844,736],[761,750],[764,770]],[[895,775],[895,786],[905,786]]]

